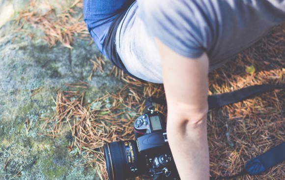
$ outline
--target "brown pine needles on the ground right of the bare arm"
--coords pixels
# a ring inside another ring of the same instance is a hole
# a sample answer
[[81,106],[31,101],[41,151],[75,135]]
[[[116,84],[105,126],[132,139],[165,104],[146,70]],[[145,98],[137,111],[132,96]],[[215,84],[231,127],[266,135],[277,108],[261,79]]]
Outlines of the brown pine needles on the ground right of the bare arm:
[[[245,72],[253,65],[253,74]],[[285,83],[285,28],[281,26],[223,68],[210,73],[209,93]],[[285,142],[285,90],[275,90],[208,114],[211,175],[238,173],[247,160]],[[239,180],[284,180],[285,163]]]

